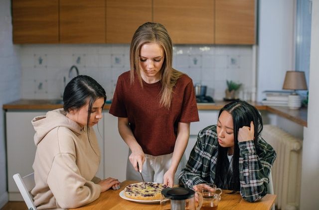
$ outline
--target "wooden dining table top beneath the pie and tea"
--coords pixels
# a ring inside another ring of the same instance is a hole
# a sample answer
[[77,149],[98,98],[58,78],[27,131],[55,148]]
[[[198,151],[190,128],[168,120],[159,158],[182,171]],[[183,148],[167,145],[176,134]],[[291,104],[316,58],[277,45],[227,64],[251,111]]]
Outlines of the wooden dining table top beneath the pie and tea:
[[[160,203],[141,204],[127,201],[119,196],[124,188],[137,181],[124,181],[121,183],[120,190],[108,190],[100,195],[100,197],[80,208],[74,210],[160,210]],[[273,206],[276,195],[267,194],[260,201],[249,203],[241,198],[240,194],[227,194],[230,191],[223,191],[221,201],[218,204],[218,210],[270,210]]]

